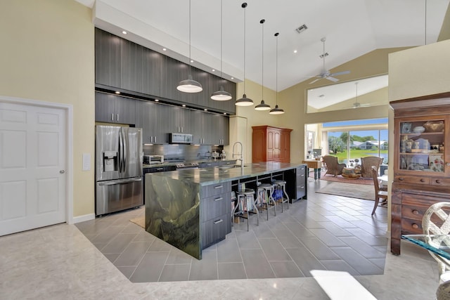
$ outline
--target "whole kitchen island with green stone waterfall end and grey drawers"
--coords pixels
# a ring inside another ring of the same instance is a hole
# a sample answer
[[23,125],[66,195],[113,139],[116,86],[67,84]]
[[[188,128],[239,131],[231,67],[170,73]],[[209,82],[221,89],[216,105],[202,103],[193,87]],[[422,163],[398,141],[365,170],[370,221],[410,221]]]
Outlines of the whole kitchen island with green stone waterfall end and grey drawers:
[[273,179],[287,182],[290,199],[306,197],[306,164],[261,162],[245,167],[184,169],[146,174],[146,231],[202,259],[202,250],[231,233],[231,192]]

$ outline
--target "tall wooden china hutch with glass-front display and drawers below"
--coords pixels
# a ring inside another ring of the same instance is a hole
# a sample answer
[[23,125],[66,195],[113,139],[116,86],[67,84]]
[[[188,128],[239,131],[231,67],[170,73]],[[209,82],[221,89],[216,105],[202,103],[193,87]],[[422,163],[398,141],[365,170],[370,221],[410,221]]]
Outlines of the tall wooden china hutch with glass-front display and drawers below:
[[423,234],[428,207],[450,202],[450,93],[390,105],[395,122],[391,252],[398,255],[401,235]]

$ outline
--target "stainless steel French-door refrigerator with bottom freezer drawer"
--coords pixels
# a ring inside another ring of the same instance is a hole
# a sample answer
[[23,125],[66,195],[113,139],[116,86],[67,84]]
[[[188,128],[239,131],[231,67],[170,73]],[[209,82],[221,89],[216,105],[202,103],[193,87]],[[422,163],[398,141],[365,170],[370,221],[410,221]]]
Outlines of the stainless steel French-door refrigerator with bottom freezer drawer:
[[142,129],[96,126],[96,216],[143,204]]

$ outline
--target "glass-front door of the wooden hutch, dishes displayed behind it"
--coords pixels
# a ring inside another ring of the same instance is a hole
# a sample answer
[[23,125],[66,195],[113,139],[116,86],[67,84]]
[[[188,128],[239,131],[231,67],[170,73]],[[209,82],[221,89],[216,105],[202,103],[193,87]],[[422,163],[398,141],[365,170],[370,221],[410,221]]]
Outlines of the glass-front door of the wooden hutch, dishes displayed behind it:
[[406,174],[426,172],[432,176],[449,176],[445,155],[448,122],[449,117],[445,115],[397,119],[396,169]]

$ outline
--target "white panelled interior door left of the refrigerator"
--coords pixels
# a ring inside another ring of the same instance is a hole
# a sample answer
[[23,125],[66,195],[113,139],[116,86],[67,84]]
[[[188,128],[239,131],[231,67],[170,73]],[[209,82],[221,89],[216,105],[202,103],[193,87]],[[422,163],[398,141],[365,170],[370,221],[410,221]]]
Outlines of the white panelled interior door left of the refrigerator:
[[67,221],[66,115],[0,102],[0,236]]

